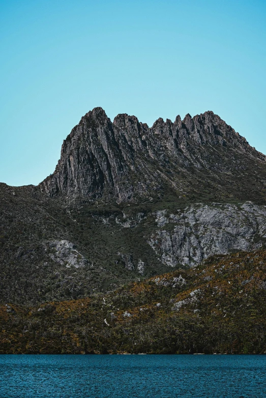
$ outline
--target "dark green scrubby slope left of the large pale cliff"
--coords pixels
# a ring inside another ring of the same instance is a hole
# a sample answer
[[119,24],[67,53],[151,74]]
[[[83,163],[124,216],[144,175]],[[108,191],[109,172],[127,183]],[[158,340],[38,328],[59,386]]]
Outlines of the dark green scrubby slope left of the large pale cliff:
[[124,228],[117,205],[53,200],[33,186],[0,188],[2,302],[86,297],[167,270],[143,238],[154,217]]

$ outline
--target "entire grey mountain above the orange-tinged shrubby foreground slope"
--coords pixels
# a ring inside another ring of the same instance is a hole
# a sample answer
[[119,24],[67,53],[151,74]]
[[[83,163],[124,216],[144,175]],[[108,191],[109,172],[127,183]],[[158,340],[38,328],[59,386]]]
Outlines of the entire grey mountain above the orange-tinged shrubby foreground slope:
[[0,302],[83,299],[262,248],[265,159],[211,111],[149,128],[93,109],[52,175],[0,184]]

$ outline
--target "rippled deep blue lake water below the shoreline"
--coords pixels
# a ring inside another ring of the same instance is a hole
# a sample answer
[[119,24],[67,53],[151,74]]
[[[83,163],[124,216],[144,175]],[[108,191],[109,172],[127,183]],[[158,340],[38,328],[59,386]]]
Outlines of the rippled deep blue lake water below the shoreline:
[[266,397],[266,356],[0,355],[0,396]]

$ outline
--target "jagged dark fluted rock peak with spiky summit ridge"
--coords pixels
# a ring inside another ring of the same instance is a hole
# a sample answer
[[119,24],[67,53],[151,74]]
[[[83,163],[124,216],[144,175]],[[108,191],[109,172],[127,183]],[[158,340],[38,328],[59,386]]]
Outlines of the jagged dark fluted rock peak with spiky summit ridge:
[[127,114],[111,123],[94,108],[64,140],[55,172],[39,186],[50,196],[136,202],[161,197],[166,187],[178,195],[202,193],[203,186],[223,190],[223,181],[254,174],[264,163],[265,156],[212,111],[174,123],[160,118],[149,128]]

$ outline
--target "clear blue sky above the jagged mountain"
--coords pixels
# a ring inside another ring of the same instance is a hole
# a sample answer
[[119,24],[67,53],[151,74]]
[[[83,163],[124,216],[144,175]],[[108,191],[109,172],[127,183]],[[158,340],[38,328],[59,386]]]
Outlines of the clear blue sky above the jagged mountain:
[[266,153],[265,0],[0,0],[0,181],[38,184],[88,110],[213,110]]

